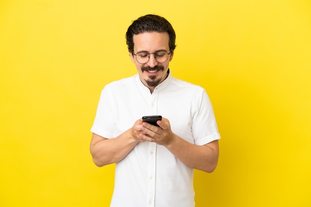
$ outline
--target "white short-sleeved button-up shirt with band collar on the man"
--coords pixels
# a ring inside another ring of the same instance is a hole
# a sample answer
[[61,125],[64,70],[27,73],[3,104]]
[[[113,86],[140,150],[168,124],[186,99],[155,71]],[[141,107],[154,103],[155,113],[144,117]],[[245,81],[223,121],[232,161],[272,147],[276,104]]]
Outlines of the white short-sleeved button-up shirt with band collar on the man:
[[[220,139],[205,90],[171,73],[153,94],[138,74],[106,85],[91,132],[113,139],[145,115],[162,115],[173,133],[195,145]],[[139,143],[116,163],[110,207],[194,207],[193,169],[163,146]]]

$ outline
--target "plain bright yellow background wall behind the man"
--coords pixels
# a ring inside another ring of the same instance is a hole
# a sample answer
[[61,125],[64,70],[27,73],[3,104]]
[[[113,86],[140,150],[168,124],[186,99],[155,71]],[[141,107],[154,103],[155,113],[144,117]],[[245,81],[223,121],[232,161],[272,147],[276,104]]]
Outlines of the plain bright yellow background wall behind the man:
[[310,0],[1,0],[0,206],[109,205],[89,130],[104,85],[136,73],[125,32],[147,13],[173,25],[172,74],[207,90],[222,136],[197,207],[310,207]]

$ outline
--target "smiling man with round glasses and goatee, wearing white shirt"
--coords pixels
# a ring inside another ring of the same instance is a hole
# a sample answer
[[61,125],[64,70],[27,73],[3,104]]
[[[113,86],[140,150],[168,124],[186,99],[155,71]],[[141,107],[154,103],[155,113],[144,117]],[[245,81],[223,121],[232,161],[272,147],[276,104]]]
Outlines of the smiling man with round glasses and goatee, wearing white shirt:
[[[172,77],[175,32],[146,15],[126,33],[138,74],[102,90],[90,152],[97,166],[116,163],[111,207],[194,207],[193,169],[217,166],[220,135],[205,90]],[[162,115],[158,126],[142,116]]]

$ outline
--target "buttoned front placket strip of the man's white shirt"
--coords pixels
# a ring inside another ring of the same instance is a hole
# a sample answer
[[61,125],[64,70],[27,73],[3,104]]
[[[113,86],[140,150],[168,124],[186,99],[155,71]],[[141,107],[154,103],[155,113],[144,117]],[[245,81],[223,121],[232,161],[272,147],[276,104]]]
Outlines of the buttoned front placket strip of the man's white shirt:
[[[157,115],[157,89],[152,94],[150,114]],[[149,143],[148,158],[148,207],[155,207],[156,197],[156,143]]]

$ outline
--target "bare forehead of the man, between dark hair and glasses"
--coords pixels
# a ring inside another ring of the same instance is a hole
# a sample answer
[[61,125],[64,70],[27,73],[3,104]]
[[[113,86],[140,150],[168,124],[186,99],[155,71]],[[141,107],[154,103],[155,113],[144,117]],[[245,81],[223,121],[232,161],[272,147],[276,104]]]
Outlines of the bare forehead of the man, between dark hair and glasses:
[[144,32],[133,36],[134,51],[155,52],[169,50],[169,38],[167,32]]

